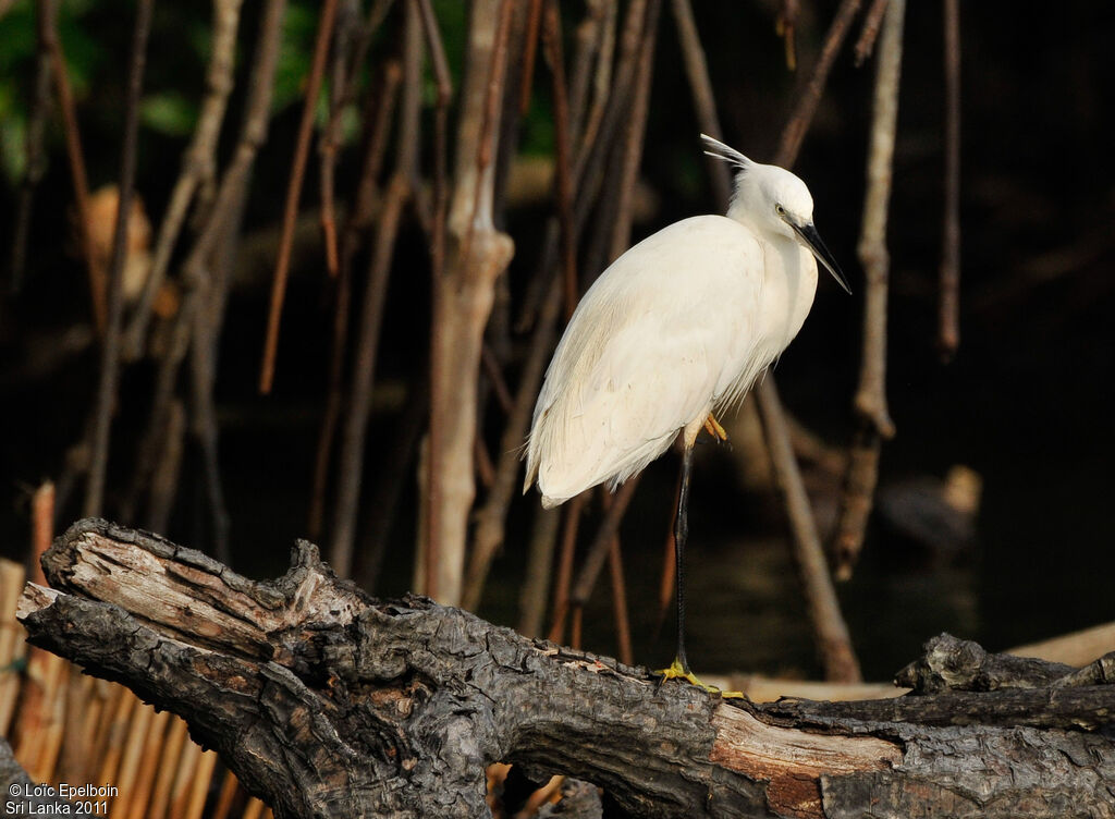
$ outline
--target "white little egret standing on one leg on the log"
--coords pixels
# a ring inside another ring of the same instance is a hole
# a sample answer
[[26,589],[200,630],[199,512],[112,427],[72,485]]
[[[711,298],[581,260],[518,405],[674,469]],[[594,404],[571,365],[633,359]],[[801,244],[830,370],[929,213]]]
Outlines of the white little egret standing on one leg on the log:
[[789,171],[701,135],[736,171],[727,216],[692,216],[642,240],[600,274],[558,344],[526,442],[525,492],[552,508],[614,490],[683,444],[675,522],[678,648],[666,677],[697,683],[685,646],[683,557],[694,442],[724,440],[737,404],[797,335],[817,261],[847,280],[813,227],[813,197]]

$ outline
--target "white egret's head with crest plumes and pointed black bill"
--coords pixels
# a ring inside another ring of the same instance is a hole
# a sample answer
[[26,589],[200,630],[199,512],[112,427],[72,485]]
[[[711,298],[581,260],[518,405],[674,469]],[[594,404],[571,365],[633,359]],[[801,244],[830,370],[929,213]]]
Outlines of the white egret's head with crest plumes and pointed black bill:
[[797,176],[777,165],[752,162],[733,147],[701,134],[705,153],[736,168],[736,191],[728,218],[759,234],[780,235],[799,242],[817,258],[849,293],[852,289],[833,254],[813,225],[813,196]]

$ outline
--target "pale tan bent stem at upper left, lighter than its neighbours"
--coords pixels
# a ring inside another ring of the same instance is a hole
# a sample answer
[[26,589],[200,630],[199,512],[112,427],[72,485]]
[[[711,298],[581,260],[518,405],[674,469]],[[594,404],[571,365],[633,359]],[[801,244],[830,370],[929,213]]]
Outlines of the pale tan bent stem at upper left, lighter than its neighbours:
[[151,271],[124,338],[126,358],[138,357],[143,349],[152,306],[166,278],[171,254],[185,223],[190,204],[197,190],[215,175],[217,138],[221,135],[234,81],[233,67],[241,2],[242,0],[217,0],[213,3],[213,38],[205,74],[205,99],[202,102],[193,138],[182,157],[182,172],[174,183],[171,202],[159,224]]

